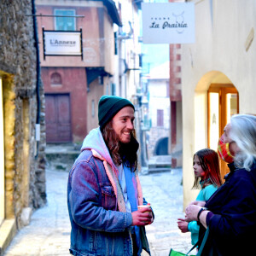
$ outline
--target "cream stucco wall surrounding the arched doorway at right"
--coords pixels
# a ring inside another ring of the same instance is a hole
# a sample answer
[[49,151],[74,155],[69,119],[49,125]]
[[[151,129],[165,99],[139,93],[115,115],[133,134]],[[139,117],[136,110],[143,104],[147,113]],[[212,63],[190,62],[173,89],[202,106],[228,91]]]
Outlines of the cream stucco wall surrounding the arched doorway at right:
[[[195,200],[192,157],[207,148],[207,89],[231,83],[239,92],[240,113],[256,113],[256,24],[253,0],[193,1],[195,44],[183,44],[183,205]],[[212,11],[211,11],[212,9]],[[251,34],[252,35],[252,34]],[[213,148],[216,149],[216,148]]]

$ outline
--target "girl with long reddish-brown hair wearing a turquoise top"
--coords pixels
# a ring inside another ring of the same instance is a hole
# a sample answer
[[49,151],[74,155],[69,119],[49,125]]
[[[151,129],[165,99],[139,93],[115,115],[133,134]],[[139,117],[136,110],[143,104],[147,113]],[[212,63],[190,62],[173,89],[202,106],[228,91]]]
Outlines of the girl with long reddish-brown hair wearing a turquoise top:
[[[195,173],[195,183],[192,189],[201,188],[201,191],[196,197],[196,201],[207,201],[222,184],[218,154],[209,148],[197,151],[193,158],[193,169]],[[187,222],[184,218],[178,218],[177,226],[183,233],[191,232],[191,243],[195,245],[198,241],[200,229],[197,222]]]

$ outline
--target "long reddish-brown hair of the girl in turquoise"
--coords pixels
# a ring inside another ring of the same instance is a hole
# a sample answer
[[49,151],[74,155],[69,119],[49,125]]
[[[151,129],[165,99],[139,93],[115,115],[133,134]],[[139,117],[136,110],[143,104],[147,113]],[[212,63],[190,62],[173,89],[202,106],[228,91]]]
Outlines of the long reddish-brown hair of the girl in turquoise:
[[[193,161],[195,160],[195,155],[199,158],[201,168],[207,173],[205,182],[202,184],[202,188],[205,188],[209,184],[220,187],[222,185],[222,180],[220,177],[217,152],[210,148],[201,149],[194,154]],[[200,189],[200,177],[195,177],[192,189]]]

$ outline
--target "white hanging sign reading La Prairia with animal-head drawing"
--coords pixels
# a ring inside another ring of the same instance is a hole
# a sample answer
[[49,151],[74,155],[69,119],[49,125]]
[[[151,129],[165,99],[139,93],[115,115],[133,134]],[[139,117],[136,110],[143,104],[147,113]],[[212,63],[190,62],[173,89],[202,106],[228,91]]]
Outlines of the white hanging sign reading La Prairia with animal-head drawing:
[[142,3],[144,44],[195,43],[194,3]]

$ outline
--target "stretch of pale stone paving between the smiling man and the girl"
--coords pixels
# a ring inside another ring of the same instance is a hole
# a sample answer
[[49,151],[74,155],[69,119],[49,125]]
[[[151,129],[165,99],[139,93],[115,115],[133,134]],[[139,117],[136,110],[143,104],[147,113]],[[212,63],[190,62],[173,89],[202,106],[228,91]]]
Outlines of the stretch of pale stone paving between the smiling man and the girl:
[[146,228],[152,255],[168,255],[171,247],[187,253],[191,247],[190,234],[182,234],[177,228],[177,218],[183,217],[182,169],[154,172],[140,179],[143,196],[151,203],[155,215],[154,223]]

